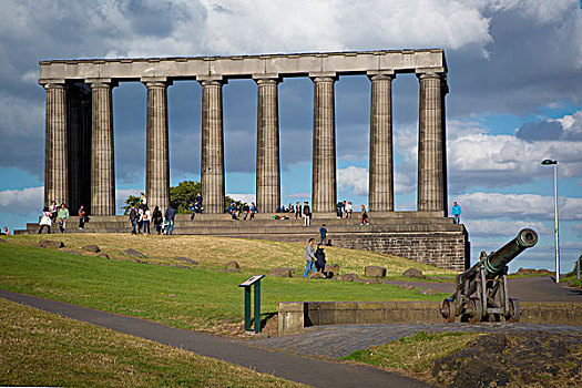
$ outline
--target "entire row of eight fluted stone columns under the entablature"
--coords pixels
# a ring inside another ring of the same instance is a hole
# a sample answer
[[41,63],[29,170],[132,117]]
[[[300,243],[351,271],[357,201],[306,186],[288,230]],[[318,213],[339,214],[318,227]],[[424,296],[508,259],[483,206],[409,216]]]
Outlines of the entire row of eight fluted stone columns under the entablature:
[[[445,94],[439,73],[418,74],[419,144],[418,211],[443,211],[446,193]],[[371,82],[369,211],[394,211],[392,103],[394,73],[369,74]],[[331,213],[337,202],[335,74],[312,76],[314,82],[313,190],[314,213]],[[112,82],[85,80],[91,85],[91,214],[115,214]],[[222,86],[226,80],[198,80],[202,84],[201,183],[205,213],[224,212],[224,129]],[[256,202],[259,212],[280,204],[278,95],[279,79],[257,83]],[[144,82],[147,89],[146,195],[162,210],[170,204],[167,86],[171,82]],[[67,88],[48,83],[45,136],[45,202],[68,201]]]

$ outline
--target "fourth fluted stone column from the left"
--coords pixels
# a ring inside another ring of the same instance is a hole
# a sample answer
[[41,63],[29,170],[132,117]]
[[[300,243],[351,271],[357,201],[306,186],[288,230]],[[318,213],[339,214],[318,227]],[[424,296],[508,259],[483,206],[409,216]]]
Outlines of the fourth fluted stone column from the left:
[[224,213],[224,130],[222,80],[202,80],[202,204],[204,213]]

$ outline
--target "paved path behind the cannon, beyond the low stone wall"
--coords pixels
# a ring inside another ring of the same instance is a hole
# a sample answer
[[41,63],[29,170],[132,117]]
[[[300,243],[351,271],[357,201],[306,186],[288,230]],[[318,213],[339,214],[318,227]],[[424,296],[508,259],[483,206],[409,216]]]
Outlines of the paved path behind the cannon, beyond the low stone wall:
[[[450,283],[400,282],[388,280],[397,286],[411,285],[418,288],[430,288],[440,293],[455,293]],[[581,302],[582,290],[568,287],[565,283],[557,284],[550,276],[530,276],[509,279],[509,295],[520,302]]]

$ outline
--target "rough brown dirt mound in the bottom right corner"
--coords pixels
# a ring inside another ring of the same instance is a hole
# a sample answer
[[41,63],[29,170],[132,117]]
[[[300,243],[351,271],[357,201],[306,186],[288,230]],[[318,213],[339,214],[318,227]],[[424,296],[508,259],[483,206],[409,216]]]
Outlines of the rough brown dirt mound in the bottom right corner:
[[490,334],[435,361],[446,387],[574,387],[582,380],[582,334]]

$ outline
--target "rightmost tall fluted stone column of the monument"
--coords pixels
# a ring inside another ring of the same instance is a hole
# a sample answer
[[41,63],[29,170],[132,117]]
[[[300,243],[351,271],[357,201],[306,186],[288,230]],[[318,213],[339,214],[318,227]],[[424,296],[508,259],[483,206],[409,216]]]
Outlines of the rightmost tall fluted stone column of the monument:
[[418,211],[443,211],[446,155],[442,79],[418,74],[420,82],[418,135]]

